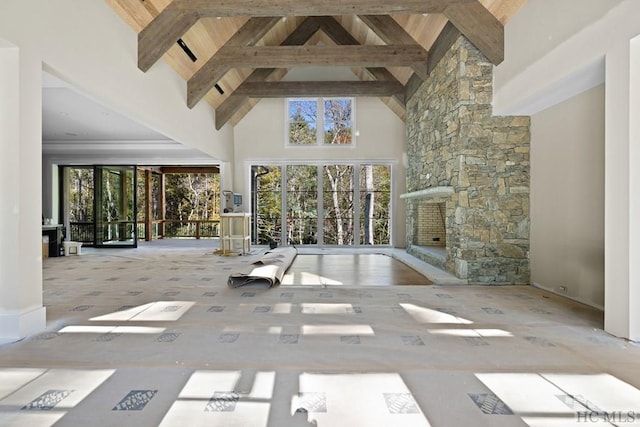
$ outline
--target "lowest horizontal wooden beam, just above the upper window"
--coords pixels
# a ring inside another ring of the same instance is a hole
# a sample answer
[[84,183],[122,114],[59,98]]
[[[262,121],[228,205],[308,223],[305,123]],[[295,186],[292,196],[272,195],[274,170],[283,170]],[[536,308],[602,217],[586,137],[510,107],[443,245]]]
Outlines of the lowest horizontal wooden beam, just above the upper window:
[[397,81],[244,82],[233,93],[250,98],[404,96],[404,86]]

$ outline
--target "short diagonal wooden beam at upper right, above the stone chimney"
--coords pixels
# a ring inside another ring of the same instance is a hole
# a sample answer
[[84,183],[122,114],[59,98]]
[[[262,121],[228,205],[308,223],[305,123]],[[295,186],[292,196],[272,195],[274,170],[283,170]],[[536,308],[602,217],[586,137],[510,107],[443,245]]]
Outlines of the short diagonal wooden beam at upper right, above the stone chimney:
[[451,5],[444,14],[493,65],[504,60],[504,26],[482,3]]

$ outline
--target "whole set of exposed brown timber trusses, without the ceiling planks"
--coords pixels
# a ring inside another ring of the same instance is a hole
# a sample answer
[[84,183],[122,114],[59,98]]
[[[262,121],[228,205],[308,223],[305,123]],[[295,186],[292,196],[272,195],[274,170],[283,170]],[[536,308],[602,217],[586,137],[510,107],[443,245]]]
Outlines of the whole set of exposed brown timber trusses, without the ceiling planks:
[[[332,16],[354,15],[386,45],[360,45]],[[430,52],[393,18],[394,13],[442,13],[449,24]],[[254,68],[243,84],[216,109],[222,127],[252,97],[389,96],[404,108],[422,80],[460,34],[494,64],[504,58],[504,28],[479,0],[173,0],[138,34],[138,67],[147,71],[200,18],[251,16],[187,83],[187,105],[193,108],[232,68]],[[280,45],[256,43],[283,16],[311,16]],[[305,46],[318,30],[337,46]],[[362,67],[373,82],[269,82],[297,66]],[[410,67],[406,87],[386,67]],[[262,83],[262,85],[260,85]],[[296,93],[296,91],[298,91]]]

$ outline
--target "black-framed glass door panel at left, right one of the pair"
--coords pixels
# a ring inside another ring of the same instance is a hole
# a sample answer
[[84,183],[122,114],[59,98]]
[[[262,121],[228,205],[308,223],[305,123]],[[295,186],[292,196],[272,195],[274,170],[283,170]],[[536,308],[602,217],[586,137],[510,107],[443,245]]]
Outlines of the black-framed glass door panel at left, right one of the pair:
[[95,246],[136,247],[136,167],[95,167]]

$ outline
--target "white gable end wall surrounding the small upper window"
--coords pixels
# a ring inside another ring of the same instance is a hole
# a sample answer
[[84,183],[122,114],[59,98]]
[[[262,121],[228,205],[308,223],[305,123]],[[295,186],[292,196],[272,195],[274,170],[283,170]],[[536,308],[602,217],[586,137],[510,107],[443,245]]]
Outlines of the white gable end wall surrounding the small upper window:
[[235,127],[234,191],[248,193],[248,162],[291,160],[379,160],[392,161],[394,200],[393,245],[406,239],[404,201],[406,191],[405,125],[377,98],[355,102],[355,147],[285,147],[285,100],[263,99]]

